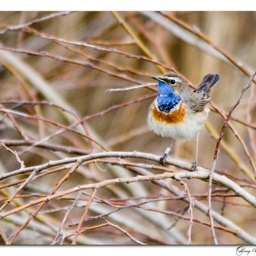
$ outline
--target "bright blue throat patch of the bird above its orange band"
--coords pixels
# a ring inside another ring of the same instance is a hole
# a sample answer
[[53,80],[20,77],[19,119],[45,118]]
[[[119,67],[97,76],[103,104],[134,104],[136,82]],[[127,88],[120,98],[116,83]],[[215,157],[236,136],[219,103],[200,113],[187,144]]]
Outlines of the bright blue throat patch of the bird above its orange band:
[[181,97],[175,94],[174,88],[170,87],[167,83],[158,82],[156,101],[160,111],[170,112],[181,100]]

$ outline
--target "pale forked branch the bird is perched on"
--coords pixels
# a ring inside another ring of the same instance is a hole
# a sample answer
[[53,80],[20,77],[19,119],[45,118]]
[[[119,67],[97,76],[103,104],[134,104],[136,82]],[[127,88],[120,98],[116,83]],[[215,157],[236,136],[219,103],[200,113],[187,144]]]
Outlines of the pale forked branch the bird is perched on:
[[[61,160],[57,160],[57,161],[49,161],[45,164],[27,167],[27,168],[20,168],[13,172],[9,172],[9,173],[0,175],[0,180],[6,179],[6,178],[14,176],[14,175],[28,173],[28,172],[34,171],[35,169],[38,172],[40,172],[41,170],[51,168],[54,166],[63,165],[63,164],[74,163],[77,161],[86,162],[86,161],[94,160],[94,159],[98,159],[98,158],[109,158],[109,157],[137,158],[137,159],[144,159],[144,160],[149,160],[149,161],[154,161],[154,162],[159,162],[159,160],[160,160],[160,156],[136,152],[136,151],[134,151],[134,152],[102,152],[102,153],[94,153],[94,154],[84,155],[84,156],[79,156],[79,157],[70,157],[70,158],[65,158],[65,159],[61,159]],[[168,158],[166,160],[166,163],[169,165],[175,166],[177,168],[187,170],[187,171],[189,171],[189,169],[192,167],[191,164],[180,162],[180,161],[173,160],[170,158]],[[95,184],[82,185],[82,186],[77,186],[76,188],[73,188],[74,191],[72,191],[72,192],[79,191],[81,189],[100,188],[102,186],[107,186],[107,185],[113,184],[113,183],[130,183],[130,182],[139,182],[139,181],[145,181],[145,180],[148,181],[148,180],[161,180],[161,179],[167,179],[167,178],[174,178],[175,174],[178,175],[179,178],[188,178],[188,179],[195,178],[195,179],[204,179],[204,180],[207,180],[209,178],[209,170],[205,169],[205,168],[198,167],[197,172],[184,172],[183,171],[181,173],[162,173],[162,174],[157,174],[157,175],[144,175],[144,176],[141,175],[141,176],[127,178],[127,179],[113,179],[113,180],[108,180],[108,181],[99,182],[99,183],[95,183]],[[256,198],[254,196],[250,195],[244,189],[242,189],[235,182],[229,180],[224,175],[218,175],[218,174],[214,174],[212,180],[214,182],[218,183],[219,185],[232,190],[233,192],[235,192],[236,195],[242,197],[246,202],[248,202],[250,205],[252,205],[254,208],[256,208]],[[64,193],[63,195],[72,193],[72,192],[69,192],[69,190],[61,192],[61,193]],[[58,195],[58,196],[56,196],[56,195]],[[62,194],[56,194],[56,195],[54,195],[54,198],[63,196]],[[49,200],[50,199],[52,199],[52,198],[49,198]],[[44,200],[48,200],[48,199],[41,198],[38,200],[40,200],[40,202],[43,202]],[[35,202],[35,201],[33,201],[33,202]],[[38,203],[38,202],[35,202],[33,204],[36,204],[36,203]],[[24,207],[24,206],[22,206],[22,207]],[[19,210],[17,210],[17,211],[19,211]]]

